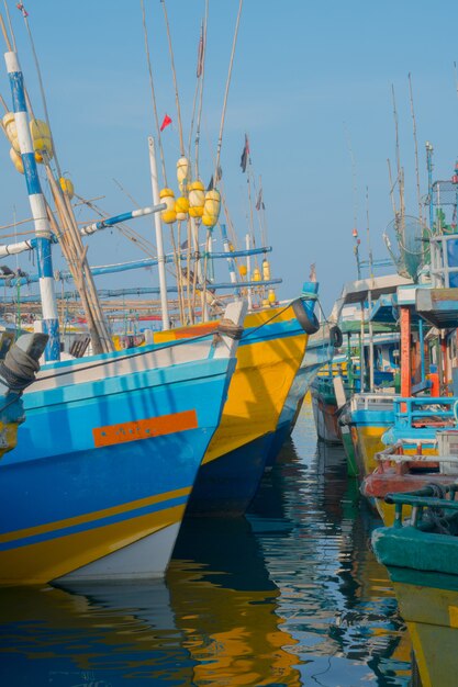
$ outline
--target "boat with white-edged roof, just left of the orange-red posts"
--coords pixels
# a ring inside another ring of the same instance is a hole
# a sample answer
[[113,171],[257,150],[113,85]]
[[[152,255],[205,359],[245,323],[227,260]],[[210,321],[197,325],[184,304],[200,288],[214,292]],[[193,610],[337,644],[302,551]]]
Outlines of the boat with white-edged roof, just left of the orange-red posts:
[[[368,418],[362,418],[360,413],[368,408],[361,407],[360,403],[350,408],[350,399],[355,394],[373,394],[376,390],[383,394],[390,393],[390,390],[393,393],[393,371],[399,367],[399,361],[393,359],[393,351],[399,348],[399,334],[393,333],[395,324],[383,322],[384,312],[389,309],[391,313],[392,309],[392,304],[388,305],[383,299],[394,293],[400,284],[409,283],[411,280],[398,274],[348,282],[331,315],[338,322],[344,340],[347,339],[344,346],[346,352],[340,358],[335,357],[333,368],[323,369],[315,379],[312,403],[319,437],[332,443],[344,442],[349,473],[354,476],[358,472],[357,463],[365,462],[365,435],[368,432],[371,442],[373,429],[377,437],[382,432],[378,428],[380,418],[372,416],[377,421],[368,423]],[[378,314],[376,319],[372,319],[372,313]],[[350,430],[353,410],[356,409],[359,413],[355,417],[355,429]],[[372,406],[372,409],[376,408]],[[346,416],[344,423],[340,421],[343,415]],[[381,427],[386,429],[384,420]],[[359,443],[361,448],[358,449]]]

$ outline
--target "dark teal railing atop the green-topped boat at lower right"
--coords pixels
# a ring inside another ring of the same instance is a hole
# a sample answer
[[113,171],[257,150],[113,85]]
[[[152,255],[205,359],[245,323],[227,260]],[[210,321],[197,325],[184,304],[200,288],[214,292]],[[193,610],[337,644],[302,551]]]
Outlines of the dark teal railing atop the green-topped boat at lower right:
[[410,506],[412,508],[409,525],[417,529],[425,529],[425,508],[439,508],[440,510],[455,510],[456,513],[458,513],[458,500],[456,500],[458,484],[448,484],[442,486],[440,493],[445,495],[444,498],[438,498],[437,492],[437,487],[432,484],[423,487],[422,489],[418,489],[417,492],[407,492],[405,494],[387,494],[387,496],[384,497],[386,503],[394,505],[393,527],[399,528],[403,526],[403,506]]

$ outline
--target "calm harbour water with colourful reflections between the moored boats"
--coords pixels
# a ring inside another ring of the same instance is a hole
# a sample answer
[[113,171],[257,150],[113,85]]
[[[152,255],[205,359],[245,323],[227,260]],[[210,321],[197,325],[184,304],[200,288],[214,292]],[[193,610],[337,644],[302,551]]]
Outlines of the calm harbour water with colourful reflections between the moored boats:
[[0,684],[407,686],[377,523],[305,405],[248,518],[186,522],[165,583],[0,590]]

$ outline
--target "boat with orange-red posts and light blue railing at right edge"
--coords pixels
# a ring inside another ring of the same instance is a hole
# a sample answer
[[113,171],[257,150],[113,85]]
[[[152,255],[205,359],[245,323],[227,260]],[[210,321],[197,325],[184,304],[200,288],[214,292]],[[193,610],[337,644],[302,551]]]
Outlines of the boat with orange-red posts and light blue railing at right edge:
[[[440,194],[447,198],[447,184],[454,191],[451,182],[433,184],[432,203],[438,204]],[[456,207],[455,191],[454,199]],[[438,211],[437,221],[431,219],[434,230],[438,232],[428,237],[431,283],[399,289],[402,397],[393,403],[393,425],[383,435],[386,448],[376,453],[375,471],[367,475],[362,485],[364,493],[376,499],[387,525],[394,518],[393,508],[384,500],[388,493],[421,489],[431,482],[444,486],[458,476],[454,458],[457,453],[457,397],[449,395],[450,392],[458,392],[454,383],[458,313],[458,290],[454,285],[458,272],[455,255],[457,235],[451,227],[445,232],[443,217]],[[437,226],[438,223],[440,226]],[[414,318],[418,335],[412,346]],[[425,327],[431,327],[426,337],[423,334]]]

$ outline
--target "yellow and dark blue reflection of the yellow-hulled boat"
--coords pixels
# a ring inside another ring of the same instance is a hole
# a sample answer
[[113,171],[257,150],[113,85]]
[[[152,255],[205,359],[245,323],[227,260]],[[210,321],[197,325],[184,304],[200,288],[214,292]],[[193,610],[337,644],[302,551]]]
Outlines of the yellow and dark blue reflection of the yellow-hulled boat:
[[196,661],[192,685],[300,687],[297,642],[277,612],[280,593],[249,523],[185,520],[174,559],[167,581],[183,646]]

